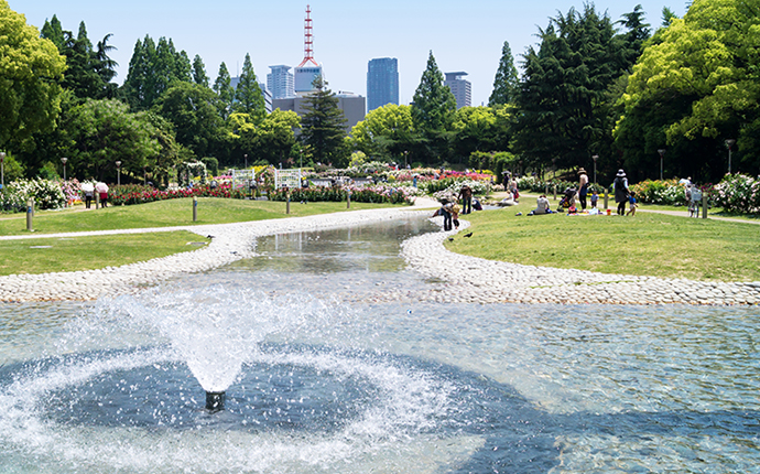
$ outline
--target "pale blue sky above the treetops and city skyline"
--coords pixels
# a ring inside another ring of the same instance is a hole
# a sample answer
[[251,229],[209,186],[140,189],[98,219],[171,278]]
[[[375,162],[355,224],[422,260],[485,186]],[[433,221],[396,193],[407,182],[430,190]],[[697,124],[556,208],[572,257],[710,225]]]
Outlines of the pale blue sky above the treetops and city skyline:
[[[84,21],[93,44],[112,34],[109,44],[117,51],[110,56],[119,63],[119,84],[127,77],[135,42],[145,35],[155,41],[172,39],[191,61],[199,55],[211,82],[222,62],[232,76],[238,75],[247,53],[264,83],[269,66],[297,66],[304,56],[308,0],[7,1],[37,29],[55,14],[64,30],[75,34]],[[314,0],[308,4],[314,57],[323,65],[332,90],[366,96],[367,63],[376,57],[395,57],[399,99],[409,104],[432,51],[443,73],[468,73],[474,106],[488,104],[504,41],[519,68],[526,47],[538,44],[539,28],[545,28],[558,12],[584,8],[582,0]],[[663,7],[678,17],[685,13],[685,1],[595,2],[597,11],[607,12],[614,21],[637,4],[642,6],[647,22],[653,26],[662,22]]]

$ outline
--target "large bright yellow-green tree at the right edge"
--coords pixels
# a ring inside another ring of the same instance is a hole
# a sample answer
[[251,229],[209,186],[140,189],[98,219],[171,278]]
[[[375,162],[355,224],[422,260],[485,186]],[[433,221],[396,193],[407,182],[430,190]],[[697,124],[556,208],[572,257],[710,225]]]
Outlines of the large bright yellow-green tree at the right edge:
[[731,138],[732,171],[760,171],[760,0],[695,0],[658,35],[623,97],[616,137],[627,162],[656,169],[666,144],[671,173],[719,180]]

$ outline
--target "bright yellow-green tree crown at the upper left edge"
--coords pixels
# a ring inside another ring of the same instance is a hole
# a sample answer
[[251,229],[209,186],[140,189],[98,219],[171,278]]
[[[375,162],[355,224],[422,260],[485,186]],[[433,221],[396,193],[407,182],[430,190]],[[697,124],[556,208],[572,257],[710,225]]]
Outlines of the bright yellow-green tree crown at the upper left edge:
[[51,130],[61,111],[66,60],[0,0],[0,147]]

